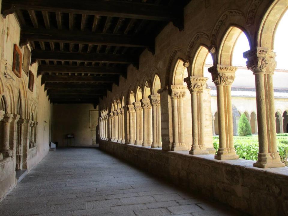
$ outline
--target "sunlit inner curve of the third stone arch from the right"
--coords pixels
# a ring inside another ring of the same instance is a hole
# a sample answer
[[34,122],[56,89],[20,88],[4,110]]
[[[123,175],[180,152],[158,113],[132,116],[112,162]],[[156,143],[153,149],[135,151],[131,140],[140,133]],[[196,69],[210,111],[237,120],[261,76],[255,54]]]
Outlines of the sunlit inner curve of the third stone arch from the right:
[[191,76],[204,76],[206,58],[209,55],[208,47],[199,46],[192,62]]

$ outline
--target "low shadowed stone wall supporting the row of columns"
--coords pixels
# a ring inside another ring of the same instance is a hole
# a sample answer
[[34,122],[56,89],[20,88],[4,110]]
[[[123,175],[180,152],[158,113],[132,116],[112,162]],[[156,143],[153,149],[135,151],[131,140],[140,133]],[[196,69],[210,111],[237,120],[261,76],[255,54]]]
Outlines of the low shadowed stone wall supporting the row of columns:
[[288,167],[260,169],[254,161],[214,160],[100,140],[101,150],[188,191],[226,203],[252,215],[288,215]]

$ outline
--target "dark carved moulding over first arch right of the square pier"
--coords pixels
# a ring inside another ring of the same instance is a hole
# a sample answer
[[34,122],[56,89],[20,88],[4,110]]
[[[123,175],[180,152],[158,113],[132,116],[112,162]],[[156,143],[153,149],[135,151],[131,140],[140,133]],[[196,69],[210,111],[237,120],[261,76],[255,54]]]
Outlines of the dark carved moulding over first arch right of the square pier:
[[182,61],[184,62],[185,57],[185,53],[182,49],[174,49],[174,51],[171,53],[166,68],[165,85],[171,85],[173,83],[175,65],[179,59],[182,59]]

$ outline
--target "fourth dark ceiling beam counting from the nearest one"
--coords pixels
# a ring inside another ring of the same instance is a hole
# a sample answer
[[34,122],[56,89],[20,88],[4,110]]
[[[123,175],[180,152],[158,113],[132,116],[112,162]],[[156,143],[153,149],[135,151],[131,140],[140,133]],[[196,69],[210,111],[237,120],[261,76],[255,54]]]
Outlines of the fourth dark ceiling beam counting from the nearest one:
[[90,73],[90,74],[116,74],[121,75],[126,68],[117,67],[83,67],[83,66],[61,66],[61,65],[39,65],[37,76],[44,73]]

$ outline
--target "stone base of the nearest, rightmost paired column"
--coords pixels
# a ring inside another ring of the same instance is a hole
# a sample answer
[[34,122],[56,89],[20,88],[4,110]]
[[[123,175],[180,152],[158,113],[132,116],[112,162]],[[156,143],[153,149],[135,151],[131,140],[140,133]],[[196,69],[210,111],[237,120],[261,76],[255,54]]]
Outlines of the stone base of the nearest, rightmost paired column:
[[285,167],[285,164],[281,162],[278,152],[258,153],[258,161],[253,164],[253,167],[258,168]]

